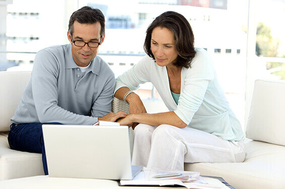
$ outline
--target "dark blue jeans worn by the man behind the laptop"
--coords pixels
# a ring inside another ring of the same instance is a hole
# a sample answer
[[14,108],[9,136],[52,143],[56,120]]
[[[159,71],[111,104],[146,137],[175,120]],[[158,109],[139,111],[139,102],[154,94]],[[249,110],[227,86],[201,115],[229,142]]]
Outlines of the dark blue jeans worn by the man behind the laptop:
[[10,148],[24,152],[41,153],[45,175],[48,174],[46,155],[43,141],[42,124],[61,124],[58,122],[49,123],[25,123],[11,124],[8,142]]

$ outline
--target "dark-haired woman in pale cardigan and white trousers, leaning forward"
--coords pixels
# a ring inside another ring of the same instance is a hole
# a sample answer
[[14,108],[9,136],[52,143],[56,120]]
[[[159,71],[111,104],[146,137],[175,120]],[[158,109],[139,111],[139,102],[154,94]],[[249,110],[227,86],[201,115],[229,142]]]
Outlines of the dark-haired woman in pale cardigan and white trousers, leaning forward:
[[[132,164],[184,170],[184,162],[242,162],[241,124],[229,107],[212,61],[194,49],[188,21],[165,12],[147,29],[148,54],[116,79],[115,97],[129,103],[121,125],[135,125]],[[148,114],[131,90],[152,82],[169,112]]]

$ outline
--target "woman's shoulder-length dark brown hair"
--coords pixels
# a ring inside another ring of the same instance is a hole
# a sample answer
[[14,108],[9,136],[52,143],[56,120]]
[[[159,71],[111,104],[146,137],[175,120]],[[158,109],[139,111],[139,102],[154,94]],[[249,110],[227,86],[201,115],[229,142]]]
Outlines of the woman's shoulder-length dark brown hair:
[[169,29],[176,41],[175,49],[178,54],[177,61],[174,63],[177,67],[190,67],[190,62],[195,56],[194,35],[189,22],[179,13],[168,11],[158,16],[148,27],[144,48],[146,53],[155,59],[151,49],[151,39],[153,30],[156,27]]

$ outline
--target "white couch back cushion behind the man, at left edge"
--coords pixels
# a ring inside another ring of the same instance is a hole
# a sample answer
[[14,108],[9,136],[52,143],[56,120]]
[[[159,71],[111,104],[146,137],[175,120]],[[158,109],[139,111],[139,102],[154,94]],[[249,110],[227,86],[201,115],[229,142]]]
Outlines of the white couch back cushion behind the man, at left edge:
[[31,72],[0,72],[0,132],[10,131],[10,119],[30,78]]

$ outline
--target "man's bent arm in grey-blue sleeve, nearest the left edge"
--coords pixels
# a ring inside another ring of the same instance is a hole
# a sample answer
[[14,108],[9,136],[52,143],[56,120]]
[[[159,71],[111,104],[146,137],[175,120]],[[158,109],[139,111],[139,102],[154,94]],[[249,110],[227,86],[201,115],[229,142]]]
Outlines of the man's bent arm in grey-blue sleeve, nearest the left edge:
[[[60,71],[58,61],[64,61],[54,54],[41,50],[37,53],[32,72],[32,95],[40,122],[91,125],[98,117],[79,115],[58,105],[57,79]],[[62,69],[62,68],[61,68]],[[72,103],[72,102],[70,102]]]

